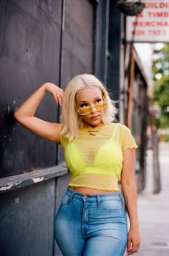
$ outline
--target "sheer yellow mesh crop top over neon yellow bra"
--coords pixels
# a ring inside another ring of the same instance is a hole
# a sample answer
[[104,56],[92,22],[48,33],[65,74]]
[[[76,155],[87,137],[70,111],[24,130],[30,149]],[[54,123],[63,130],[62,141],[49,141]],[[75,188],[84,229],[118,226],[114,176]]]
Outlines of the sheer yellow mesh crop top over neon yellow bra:
[[80,128],[79,138],[70,142],[60,136],[71,174],[69,186],[119,191],[122,150],[137,148],[130,129],[123,124],[110,123]]

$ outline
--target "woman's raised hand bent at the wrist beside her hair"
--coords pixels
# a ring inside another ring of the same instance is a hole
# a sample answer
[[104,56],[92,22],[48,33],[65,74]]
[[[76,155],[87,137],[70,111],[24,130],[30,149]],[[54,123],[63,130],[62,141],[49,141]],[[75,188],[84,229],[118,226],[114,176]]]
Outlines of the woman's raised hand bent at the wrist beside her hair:
[[54,83],[44,83],[45,90],[49,93],[51,93],[54,96],[54,100],[59,104],[59,106],[62,106],[64,91],[62,88],[59,88]]

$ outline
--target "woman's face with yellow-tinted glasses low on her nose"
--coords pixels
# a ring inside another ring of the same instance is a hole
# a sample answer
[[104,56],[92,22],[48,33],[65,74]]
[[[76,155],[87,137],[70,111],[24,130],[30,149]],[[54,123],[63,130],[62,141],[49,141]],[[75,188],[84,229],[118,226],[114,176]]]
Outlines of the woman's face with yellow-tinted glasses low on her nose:
[[[105,108],[102,93],[98,88],[87,88],[77,93],[77,112],[85,127],[102,126],[103,109]],[[99,110],[98,110],[99,109]]]

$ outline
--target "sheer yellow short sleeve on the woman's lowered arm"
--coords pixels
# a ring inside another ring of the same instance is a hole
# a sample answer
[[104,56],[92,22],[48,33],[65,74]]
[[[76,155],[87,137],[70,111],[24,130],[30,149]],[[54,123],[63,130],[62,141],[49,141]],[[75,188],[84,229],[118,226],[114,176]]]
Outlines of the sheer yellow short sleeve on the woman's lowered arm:
[[130,129],[128,129],[125,125],[122,124],[121,127],[121,142],[122,142],[122,150],[126,150],[127,148],[137,148],[134,138],[132,137]]

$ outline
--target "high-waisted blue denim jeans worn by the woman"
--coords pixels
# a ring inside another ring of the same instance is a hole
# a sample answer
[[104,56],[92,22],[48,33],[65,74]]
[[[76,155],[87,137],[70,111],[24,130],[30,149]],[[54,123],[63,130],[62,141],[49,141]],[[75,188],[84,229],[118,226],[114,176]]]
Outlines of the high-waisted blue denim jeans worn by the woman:
[[54,237],[63,256],[123,256],[127,219],[120,194],[84,196],[68,188],[54,221]]

